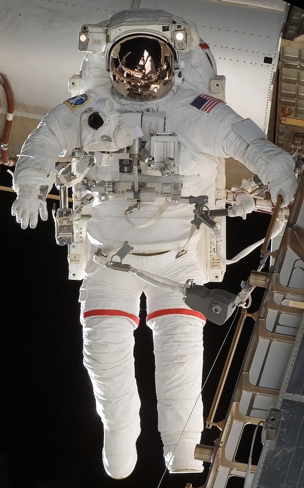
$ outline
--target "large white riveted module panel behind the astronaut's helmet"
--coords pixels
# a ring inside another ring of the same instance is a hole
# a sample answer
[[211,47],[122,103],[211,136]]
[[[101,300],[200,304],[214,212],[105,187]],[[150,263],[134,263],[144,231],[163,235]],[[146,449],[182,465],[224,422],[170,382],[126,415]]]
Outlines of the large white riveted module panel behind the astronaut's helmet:
[[83,58],[77,50],[81,24],[123,9],[161,8],[197,23],[218,73],[227,78],[228,104],[266,130],[286,3],[250,3],[258,6],[209,0],[0,0],[1,73],[11,84],[15,109],[39,119],[71,97],[68,79]]

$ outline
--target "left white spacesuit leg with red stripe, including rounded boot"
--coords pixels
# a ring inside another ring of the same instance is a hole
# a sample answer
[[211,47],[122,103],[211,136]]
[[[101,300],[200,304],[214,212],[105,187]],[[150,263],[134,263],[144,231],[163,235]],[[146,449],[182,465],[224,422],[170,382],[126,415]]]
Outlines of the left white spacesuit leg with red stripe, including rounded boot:
[[84,366],[104,427],[104,468],[122,479],[135,467],[140,433],[133,330],[139,323],[141,290],[127,273],[94,266],[80,288]]

